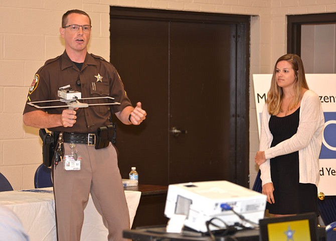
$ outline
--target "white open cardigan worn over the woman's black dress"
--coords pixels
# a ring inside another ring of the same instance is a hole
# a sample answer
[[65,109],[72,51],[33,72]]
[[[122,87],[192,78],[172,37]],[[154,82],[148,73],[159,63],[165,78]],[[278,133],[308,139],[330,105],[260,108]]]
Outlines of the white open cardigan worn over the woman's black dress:
[[300,104],[300,120],[296,134],[274,147],[270,147],[273,136],[268,122],[271,115],[267,104],[264,105],[261,117],[261,133],[259,150],[265,151],[266,162],[259,166],[262,185],[272,182],[270,159],[276,156],[299,151],[299,182],[317,185],[319,180],[318,157],[322,145],[324,115],[317,94],[307,90]]

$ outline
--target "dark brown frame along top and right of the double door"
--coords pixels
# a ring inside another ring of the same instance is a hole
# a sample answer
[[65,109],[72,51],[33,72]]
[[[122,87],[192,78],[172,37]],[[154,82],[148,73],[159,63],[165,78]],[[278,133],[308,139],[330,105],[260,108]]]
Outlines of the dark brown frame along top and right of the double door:
[[[157,9],[110,7],[110,18],[139,19],[139,20],[165,20],[183,22],[204,22],[218,24],[235,24],[237,28],[236,49],[234,56],[236,63],[231,80],[236,85],[235,101],[231,106],[234,111],[230,113],[235,123],[235,138],[232,140],[234,149],[228,150],[234,160],[229,160],[231,172],[234,173],[235,183],[249,186],[249,67],[250,67],[250,20],[247,15],[230,15],[204,12],[171,11]],[[112,46],[111,46],[112,49]],[[110,59],[111,56],[110,56]],[[169,131],[169,130],[167,130]]]

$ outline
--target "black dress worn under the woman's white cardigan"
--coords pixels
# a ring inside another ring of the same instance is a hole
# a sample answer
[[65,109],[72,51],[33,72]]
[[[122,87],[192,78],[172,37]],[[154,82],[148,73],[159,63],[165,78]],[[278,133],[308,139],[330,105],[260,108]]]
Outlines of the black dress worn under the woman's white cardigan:
[[[271,147],[283,140],[289,139],[297,132],[299,113],[300,108],[288,116],[271,116],[268,123],[273,135]],[[270,165],[275,203],[267,203],[266,209],[268,209],[269,213],[317,213],[316,185],[311,183],[299,183],[298,151],[271,158]]]

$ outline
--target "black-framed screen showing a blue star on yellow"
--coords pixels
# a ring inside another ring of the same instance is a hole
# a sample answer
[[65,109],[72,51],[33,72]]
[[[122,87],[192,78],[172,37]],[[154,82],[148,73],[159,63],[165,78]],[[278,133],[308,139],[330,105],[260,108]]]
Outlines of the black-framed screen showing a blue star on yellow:
[[317,241],[316,213],[259,220],[260,241]]

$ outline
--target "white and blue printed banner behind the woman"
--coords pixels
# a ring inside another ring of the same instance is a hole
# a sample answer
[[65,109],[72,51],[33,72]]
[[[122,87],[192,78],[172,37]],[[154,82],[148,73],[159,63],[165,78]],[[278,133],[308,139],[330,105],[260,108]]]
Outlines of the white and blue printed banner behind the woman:
[[[271,79],[271,74],[253,75],[259,138],[261,112]],[[306,74],[306,80],[309,89],[319,96],[325,120],[319,155],[318,192],[326,196],[336,195],[336,74]]]

